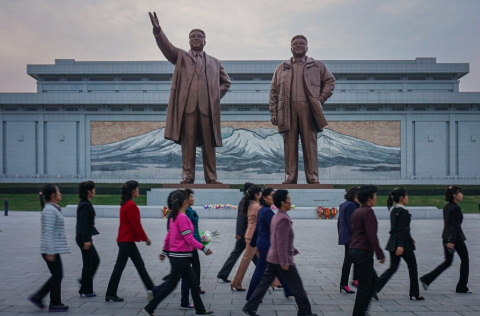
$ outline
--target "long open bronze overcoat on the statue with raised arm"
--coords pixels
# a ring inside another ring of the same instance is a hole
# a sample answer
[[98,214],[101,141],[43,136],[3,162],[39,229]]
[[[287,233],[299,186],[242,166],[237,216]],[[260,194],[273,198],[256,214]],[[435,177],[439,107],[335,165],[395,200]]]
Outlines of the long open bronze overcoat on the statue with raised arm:
[[[173,46],[163,30],[155,35],[157,45],[169,62],[175,65],[173,71],[172,87],[168,100],[167,122],[165,126],[165,138],[181,143],[181,129],[188,91],[195,74],[195,57],[191,51],[184,51]],[[205,53],[208,85],[208,98],[210,101],[210,114],[212,118],[212,130],[215,138],[215,146],[222,146],[222,134],[220,130],[220,99],[227,93],[231,85],[225,69],[220,61]],[[197,139],[197,146],[201,146]]]

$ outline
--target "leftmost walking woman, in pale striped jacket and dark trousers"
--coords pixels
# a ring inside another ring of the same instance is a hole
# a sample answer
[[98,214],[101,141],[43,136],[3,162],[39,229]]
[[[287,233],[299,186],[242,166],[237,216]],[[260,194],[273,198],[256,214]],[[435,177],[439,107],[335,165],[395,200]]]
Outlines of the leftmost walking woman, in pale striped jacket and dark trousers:
[[42,206],[42,235],[40,253],[52,274],[50,279],[32,296],[28,298],[38,308],[45,308],[43,298],[50,292],[49,312],[66,312],[68,306],[62,303],[63,266],[60,255],[69,253],[65,236],[63,214],[58,206],[62,200],[60,189],[55,184],[45,184],[40,195]]

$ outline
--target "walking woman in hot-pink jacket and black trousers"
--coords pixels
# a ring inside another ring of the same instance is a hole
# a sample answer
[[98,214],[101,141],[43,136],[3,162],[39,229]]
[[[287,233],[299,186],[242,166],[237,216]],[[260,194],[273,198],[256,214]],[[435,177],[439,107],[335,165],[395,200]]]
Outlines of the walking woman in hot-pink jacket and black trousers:
[[168,256],[170,260],[170,276],[167,284],[161,287],[142,312],[145,315],[153,316],[158,304],[175,289],[180,278],[183,277],[187,280],[192,292],[195,315],[213,315],[212,311],[205,309],[200,298],[199,279],[193,271],[190,261],[194,249],[202,250],[207,256],[212,254],[212,251],[193,237],[193,224],[185,215],[189,206],[185,194],[182,191],[176,191],[171,197],[171,203],[169,229],[165,236],[163,251],[160,254],[161,261],[165,259],[165,256]]

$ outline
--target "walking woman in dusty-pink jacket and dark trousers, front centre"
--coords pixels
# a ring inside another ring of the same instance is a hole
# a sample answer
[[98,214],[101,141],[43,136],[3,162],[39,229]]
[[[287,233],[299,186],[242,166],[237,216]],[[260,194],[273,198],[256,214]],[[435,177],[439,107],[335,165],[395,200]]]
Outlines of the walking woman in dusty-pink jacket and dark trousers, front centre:
[[273,202],[278,208],[273,216],[270,226],[270,248],[267,254],[267,268],[263,273],[260,284],[253,292],[242,311],[250,316],[258,316],[257,309],[265,293],[275,277],[280,277],[285,285],[292,291],[298,306],[299,316],[312,315],[312,308],[308,301],[307,293],[303,288],[302,279],[298,274],[293,256],[299,252],[293,246],[294,232],[292,220],[287,212],[291,209],[292,202],[287,190],[277,190],[273,195]]

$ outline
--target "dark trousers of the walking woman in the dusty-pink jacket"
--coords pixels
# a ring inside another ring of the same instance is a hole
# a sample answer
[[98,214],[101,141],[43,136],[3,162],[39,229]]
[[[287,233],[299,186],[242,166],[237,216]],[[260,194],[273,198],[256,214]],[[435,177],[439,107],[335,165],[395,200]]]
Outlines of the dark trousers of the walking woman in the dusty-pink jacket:
[[293,296],[295,297],[295,302],[298,306],[297,315],[306,316],[312,314],[312,307],[308,301],[307,293],[303,288],[302,279],[298,274],[297,268],[295,266],[289,266],[288,270],[283,270],[279,264],[273,264],[270,262],[267,263],[267,268],[263,273],[260,284],[255,289],[245,306],[256,311],[275,277],[281,278],[292,291]]

